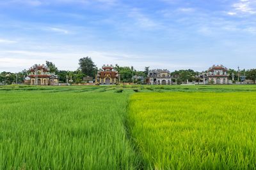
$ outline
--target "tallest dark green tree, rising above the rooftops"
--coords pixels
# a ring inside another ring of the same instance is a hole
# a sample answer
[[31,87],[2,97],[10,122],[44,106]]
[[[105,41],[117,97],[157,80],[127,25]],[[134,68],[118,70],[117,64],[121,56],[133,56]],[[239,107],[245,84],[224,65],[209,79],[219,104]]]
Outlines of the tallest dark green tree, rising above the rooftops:
[[79,59],[79,69],[81,69],[86,76],[92,76],[93,78],[97,73],[97,67],[91,57],[83,57],[82,59]]

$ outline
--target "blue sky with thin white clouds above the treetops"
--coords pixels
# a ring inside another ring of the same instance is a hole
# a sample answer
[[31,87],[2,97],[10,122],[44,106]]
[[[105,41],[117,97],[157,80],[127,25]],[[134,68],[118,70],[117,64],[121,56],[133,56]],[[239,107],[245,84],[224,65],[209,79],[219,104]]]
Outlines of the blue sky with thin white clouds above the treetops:
[[256,67],[256,0],[0,0],[0,72],[50,60],[203,71]]

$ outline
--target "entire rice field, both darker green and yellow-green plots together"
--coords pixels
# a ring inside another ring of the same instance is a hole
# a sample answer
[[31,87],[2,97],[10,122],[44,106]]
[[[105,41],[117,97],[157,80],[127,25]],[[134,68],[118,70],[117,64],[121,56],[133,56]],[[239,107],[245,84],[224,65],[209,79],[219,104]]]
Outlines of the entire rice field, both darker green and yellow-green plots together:
[[255,169],[256,86],[0,86],[0,169]]

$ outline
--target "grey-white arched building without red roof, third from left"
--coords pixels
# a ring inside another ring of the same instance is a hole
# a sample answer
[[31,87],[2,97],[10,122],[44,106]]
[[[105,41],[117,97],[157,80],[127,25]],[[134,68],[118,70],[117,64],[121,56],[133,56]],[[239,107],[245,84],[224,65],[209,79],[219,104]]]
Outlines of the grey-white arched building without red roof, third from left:
[[148,84],[171,85],[172,76],[167,69],[153,69],[148,72]]

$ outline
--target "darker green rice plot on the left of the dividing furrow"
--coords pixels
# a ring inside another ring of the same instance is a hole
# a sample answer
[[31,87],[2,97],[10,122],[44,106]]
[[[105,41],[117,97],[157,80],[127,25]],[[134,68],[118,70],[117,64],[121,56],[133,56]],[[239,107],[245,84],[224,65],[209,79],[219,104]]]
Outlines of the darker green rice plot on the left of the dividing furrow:
[[0,169],[137,169],[128,94],[1,92]]

